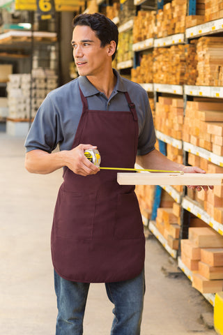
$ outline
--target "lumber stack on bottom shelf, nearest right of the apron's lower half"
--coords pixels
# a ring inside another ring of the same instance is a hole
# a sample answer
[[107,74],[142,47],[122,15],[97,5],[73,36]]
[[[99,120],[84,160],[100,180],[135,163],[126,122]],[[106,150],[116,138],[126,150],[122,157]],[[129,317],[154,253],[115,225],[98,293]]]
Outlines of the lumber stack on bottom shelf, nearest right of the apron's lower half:
[[180,205],[173,202],[172,207],[159,207],[155,219],[157,230],[167,240],[167,244],[178,250],[180,239]]

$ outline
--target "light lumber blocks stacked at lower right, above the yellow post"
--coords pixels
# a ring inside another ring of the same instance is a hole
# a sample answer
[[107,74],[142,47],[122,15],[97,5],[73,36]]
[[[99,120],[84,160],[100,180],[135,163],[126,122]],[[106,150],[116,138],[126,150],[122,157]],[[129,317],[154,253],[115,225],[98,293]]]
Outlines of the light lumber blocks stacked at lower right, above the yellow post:
[[193,271],[192,286],[201,293],[222,291],[223,237],[212,228],[189,228],[180,245],[181,260]]

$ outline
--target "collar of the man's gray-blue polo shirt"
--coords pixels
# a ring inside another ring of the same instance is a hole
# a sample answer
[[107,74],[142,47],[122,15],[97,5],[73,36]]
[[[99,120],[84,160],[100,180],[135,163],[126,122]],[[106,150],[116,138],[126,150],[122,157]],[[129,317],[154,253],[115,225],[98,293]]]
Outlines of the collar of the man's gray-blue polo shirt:
[[[113,72],[114,72],[114,75],[116,75],[116,77],[117,77],[117,82],[116,82],[116,86],[114,87],[114,91],[126,92],[127,89],[125,88],[123,78],[121,77],[121,75],[119,75],[119,73],[115,69],[113,69]],[[79,87],[81,88],[84,96],[86,96],[86,97],[94,96],[95,94],[100,93],[100,91],[98,91],[98,89],[96,89],[93,86],[93,84],[91,84],[91,82],[89,82],[87,77],[79,76],[78,81],[79,81]]]

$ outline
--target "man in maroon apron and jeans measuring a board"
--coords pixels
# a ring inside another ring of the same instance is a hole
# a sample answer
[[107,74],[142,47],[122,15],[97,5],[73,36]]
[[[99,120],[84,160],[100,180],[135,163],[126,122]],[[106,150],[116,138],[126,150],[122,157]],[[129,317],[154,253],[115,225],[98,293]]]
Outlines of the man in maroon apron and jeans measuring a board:
[[[113,335],[139,335],[144,301],[145,239],[134,186],[84,156],[98,148],[101,166],[203,172],[155,150],[146,91],[112,69],[118,29],[104,15],[73,20],[79,77],[48,94],[26,139],[26,169],[63,168],[52,226],[58,305],[56,335],[81,335],[89,283],[105,283],[114,303]],[[56,145],[60,151],[54,152]],[[197,189],[201,189],[197,186]],[[206,188],[207,189],[207,188]]]

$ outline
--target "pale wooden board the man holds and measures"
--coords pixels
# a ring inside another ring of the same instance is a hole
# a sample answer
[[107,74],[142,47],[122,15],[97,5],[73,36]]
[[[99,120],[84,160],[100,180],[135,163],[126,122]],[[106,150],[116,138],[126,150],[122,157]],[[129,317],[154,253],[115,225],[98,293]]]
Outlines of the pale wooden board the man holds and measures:
[[120,185],[222,185],[223,174],[118,172],[117,181]]

